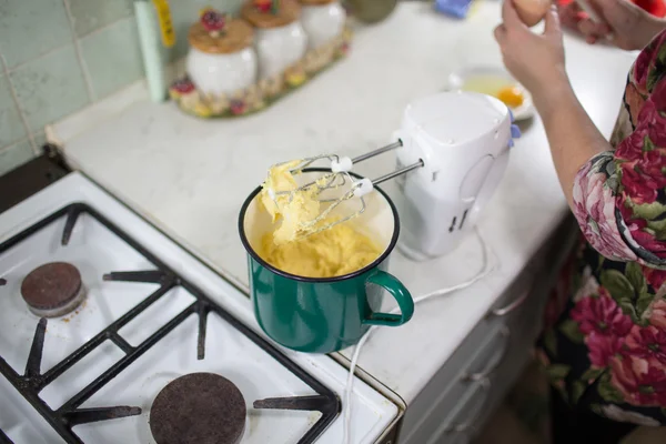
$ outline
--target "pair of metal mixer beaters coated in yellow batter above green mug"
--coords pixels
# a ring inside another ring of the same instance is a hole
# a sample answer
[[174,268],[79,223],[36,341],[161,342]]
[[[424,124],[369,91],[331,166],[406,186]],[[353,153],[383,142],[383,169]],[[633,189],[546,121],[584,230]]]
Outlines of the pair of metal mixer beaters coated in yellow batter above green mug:
[[[301,224],[301,232],[303,233],[303,235],[312,235],[312,234],[322,232],[324,230],[329,230],[339,223],[346,222],[353,218],[356,218],[356,216],[363,214],[363,212],[365,211],[365,208],[366,208],[365,199],[363,196],[365,194],[370,193],[374,189],[375,185],[377,185],[382,182],[385,182],[387,180],[394,179],[394,178],[396,178],[401,174],[404,174],[408,171],[412,171],[412,170],[423,167],[423,164],[424,164],[423,160],[420,159],[418,162],[415,162],[411,165],[392,171],[392,172],[384,174],[380,178],[376,178],[374,180],[370,180],[367,178],[363,178],[363,179],[359,180],[350,174],[350,171],[356,163],[363,162],[364,160],[374,158],[376,155],[383,154],[387,151],[398,149],[401,147],[402,147],[402,142],[397,141],[397,142],[391,143],[386,147],[382,147],[376,150],[370,151],[365,154],[361,154],[354,159],[350,159],[346,157],[340,157],[337,154],[321,154],[321,155],[316,155],[316,157],[312,157],[312,158],[306,158],[302,162],[300,162],[296,165],[294,165],[293,168],[291,168],[289,170],[290,173],[294,174],[294,175],[299,174],[307,167],[311,167],[313,163],[321,161],[323,159],[326,159],[330,161],[331,172],[324,173],[317,180],[307,182],[307,183],[300,185],[293,190],[275,191],[275,190],[269,189],[268,190],[269,195],[271,196],[271,199],[273,199],[275,204],[279,206],[280,205],[278,202],[279,196],[289,195],[287,202],[291,202],[293,196],[295,195],[295,193],[299,193],[299,192],[311,193],[311,195],[316,196],[320,202],[326,203],[329,205],[314,219],[303,222]],[[273,165],[273,168],[285,165],[290,162],[293,162],[293,161],[276,163]],[[273,168],[271,168],[271,170]],[[336,198],[322,198],[321,196],[321,194],[323,192],[325,192],[327,190],[339,190],[339,189],[347,185],[347,183],[349,183],[349,189],[341,195],[339,195]],[[354,211],[351,214],[349,214],[342,219],[337,219],[331,223],[327,223],[324,225],[319,225],[340,204],[342,204],[343,202],[349,201],[353,198],[359,199],[360,206],[359,206],[357,211]]]

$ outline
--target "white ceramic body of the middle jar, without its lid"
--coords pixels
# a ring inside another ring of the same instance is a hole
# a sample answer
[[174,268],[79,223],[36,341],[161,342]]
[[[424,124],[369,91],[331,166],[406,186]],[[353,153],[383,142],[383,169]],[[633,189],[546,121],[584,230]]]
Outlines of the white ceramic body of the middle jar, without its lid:
[[300,21],[280,28],[255,29],[260,79],[271,78],[297,62],[307,49],[307,37]]

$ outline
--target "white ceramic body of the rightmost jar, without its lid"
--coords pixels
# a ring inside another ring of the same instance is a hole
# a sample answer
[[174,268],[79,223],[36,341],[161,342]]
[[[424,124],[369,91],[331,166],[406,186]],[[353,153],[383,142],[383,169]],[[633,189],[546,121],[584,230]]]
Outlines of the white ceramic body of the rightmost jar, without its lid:
[[340,36],[345,17],[344,8],[337,1],[329,4],[303,4],[301,23],[307,34],[307,48],[319,48]]

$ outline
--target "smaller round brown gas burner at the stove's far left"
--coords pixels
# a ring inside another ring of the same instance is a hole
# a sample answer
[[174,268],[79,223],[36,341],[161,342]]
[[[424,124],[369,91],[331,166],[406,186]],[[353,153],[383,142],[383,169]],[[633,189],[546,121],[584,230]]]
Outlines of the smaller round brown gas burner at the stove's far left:
[[58,317],[74,311],[83,302],[85,287],[74,265],[51,262],[23,279],[21,294],[33,314]]

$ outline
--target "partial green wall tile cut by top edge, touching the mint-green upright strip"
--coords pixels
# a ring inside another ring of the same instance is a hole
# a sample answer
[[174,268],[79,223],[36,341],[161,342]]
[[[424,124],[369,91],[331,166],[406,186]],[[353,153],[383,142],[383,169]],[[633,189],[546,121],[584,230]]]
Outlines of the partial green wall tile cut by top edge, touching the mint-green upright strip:
[[[134,13],[132,0],[65,0],[69,2],[74,32],[83,37]],[[181,2],[182,0],[175,0]]]

